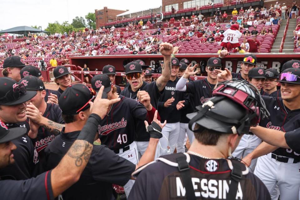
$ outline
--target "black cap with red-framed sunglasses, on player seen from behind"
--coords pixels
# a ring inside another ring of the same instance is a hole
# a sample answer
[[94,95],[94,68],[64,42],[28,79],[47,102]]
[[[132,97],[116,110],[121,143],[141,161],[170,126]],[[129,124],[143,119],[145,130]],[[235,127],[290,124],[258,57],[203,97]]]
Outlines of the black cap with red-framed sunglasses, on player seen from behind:
[[58,105],[63,115],[76,114],[88,109],[90,107],[88,102],[92,101],[96,94],[94,90],[81,83],[70,85],[61,94]]

